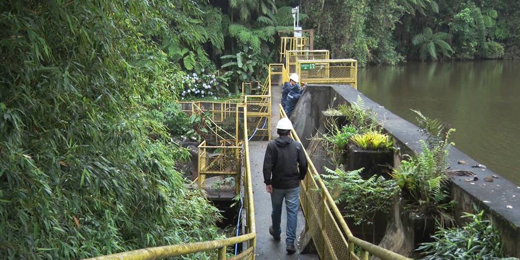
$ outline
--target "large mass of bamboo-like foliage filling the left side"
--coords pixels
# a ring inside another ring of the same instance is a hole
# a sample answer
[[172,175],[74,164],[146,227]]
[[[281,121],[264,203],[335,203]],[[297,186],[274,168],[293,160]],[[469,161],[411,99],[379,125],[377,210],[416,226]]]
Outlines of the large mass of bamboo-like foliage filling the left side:
[[216,208],[175,170],[188,153],[172,138],[186,132],[168,129],[190,119],[171,106],[187,63],[166,42],[196,53],[206,38],[186,14],[200,10],[190,1],[4,1],[1,10],[0,258],[220,237]]

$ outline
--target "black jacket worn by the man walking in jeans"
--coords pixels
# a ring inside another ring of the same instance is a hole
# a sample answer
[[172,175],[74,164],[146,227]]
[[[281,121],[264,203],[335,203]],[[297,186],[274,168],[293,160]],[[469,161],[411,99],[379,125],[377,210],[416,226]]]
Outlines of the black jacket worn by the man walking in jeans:
[[264,183],[275,189],[300,186],[307,173],[307,158],[302,144],[281,136],[267,145],[264,158]]

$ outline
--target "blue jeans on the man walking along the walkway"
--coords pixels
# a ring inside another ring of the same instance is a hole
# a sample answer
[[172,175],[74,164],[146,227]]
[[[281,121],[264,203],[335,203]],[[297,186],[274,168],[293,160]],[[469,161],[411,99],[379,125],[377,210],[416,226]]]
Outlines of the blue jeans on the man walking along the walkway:
[[285,198],[285,210],[287,211],[287,230],[285,234],[287,239],[285,243],[287,245],[294,245],[294,239],[296,239],[296,226],[298,224],[298,206],[300,187],[292,189],[275,189],[272,188],[271,203],[272,203],[272,229],[275,234],[280,235],[282,232],[280,228],[281,215],[282,215],[282,203]]

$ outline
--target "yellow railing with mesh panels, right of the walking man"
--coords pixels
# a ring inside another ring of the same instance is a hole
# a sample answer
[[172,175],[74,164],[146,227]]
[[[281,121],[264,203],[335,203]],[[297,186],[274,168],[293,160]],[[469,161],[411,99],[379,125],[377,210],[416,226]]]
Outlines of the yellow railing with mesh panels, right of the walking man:
[[[287,118],[281,105],[279,112],[280,118]],[[291,130],[291,136],[300,141],[294,129]],[[411,259],[354,237],[305,149],[304,152],[309,166],[302,181],[300,201],[306,228],[313,237],[320,259],[368,260],[370,255],[382,260]],[[356,247],[360,251],[359,256],[355,253]]]

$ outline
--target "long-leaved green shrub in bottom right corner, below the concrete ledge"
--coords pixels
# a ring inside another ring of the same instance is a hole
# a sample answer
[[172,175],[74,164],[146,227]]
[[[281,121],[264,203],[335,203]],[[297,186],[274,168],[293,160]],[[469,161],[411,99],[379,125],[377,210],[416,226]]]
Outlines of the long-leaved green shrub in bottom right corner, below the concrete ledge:
[[484,220],[484,211],[464,213],[470,221],[463,227],[443,228],[435,233],[434,242],[422,243],[423,260],[498,259],[504,256],[497,229]]

